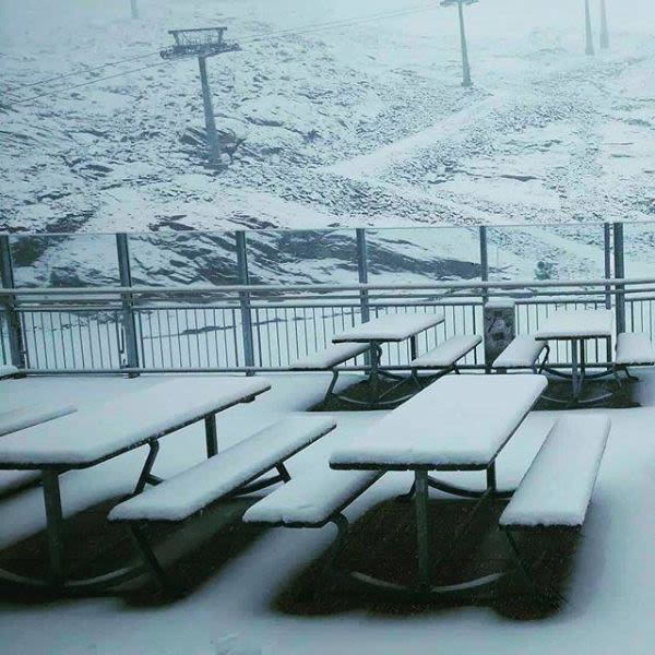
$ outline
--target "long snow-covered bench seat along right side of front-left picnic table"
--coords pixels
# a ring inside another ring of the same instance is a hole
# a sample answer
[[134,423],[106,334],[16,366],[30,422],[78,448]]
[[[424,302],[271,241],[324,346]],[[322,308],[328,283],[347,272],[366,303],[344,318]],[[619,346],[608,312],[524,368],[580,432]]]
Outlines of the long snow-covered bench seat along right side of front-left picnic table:
[[110,521],[182,521],[270,471],[336,427],[330,416],[293,415],[117,505]]

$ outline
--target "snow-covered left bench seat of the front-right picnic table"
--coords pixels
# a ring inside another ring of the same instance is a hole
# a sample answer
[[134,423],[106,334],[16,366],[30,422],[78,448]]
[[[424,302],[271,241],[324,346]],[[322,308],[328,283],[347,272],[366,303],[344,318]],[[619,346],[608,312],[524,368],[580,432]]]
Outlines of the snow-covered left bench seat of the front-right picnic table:
[[243,521],[320,527],[381,476],[378,471],[317,466],[253,504],[243,514]]

